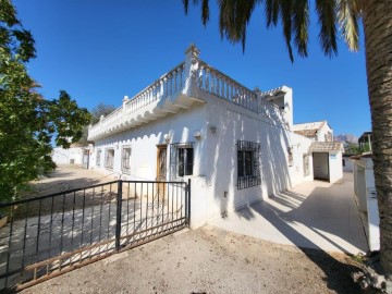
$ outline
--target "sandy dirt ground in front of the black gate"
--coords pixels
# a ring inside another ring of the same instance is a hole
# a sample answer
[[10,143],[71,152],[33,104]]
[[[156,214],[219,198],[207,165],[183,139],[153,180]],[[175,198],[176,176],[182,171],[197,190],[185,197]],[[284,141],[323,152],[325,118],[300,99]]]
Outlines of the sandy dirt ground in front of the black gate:
[[212,226],[181,231],[22,293],[360,293],[345,255]]

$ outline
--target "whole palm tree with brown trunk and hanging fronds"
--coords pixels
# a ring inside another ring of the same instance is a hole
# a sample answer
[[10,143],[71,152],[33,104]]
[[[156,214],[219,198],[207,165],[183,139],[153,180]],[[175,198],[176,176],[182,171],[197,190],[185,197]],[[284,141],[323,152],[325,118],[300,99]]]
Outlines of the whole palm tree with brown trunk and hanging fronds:
[[[198,0],[192,0],[198,5]],[[183,0],[187,13],[189,0]],[[201,22],[209,20],[209,0],[201,0]],[[242,42],[255,8],[265,7],[267,27],[282,23],[290,59],[293,47],[307,57],[308,0],[218,0],[222,37]],[[327,56],[338,53],[341,32],[350,50],[359,49],[359,22],[365,30],[366,70],[373,134],[373,167],[380,215],[380,264],[392,278],[392,1],[315,0],[320,46]]]

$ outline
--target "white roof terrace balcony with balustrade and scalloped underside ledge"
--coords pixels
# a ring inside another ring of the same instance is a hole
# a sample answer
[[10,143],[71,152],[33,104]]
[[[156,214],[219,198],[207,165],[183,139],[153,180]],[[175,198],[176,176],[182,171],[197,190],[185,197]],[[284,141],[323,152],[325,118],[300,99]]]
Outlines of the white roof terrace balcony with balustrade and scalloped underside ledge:
[[250,90],[233,78],[199,60],[199,51],[191,46],[185,61],[169,71],[133,98],[125,97],[120,108],[100,122],[89,126],[88,140],[96,140],[150,121],[159,120],[194,103],[205,103],[205,96],[213,95],[265,118],[283,121],[284,110],[268,97],[284,95],[285,87],[267,93]]

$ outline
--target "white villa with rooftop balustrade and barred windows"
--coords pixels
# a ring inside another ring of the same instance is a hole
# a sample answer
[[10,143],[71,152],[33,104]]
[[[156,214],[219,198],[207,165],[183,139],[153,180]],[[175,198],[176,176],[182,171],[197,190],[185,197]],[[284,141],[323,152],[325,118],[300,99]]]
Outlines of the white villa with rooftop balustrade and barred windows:
[[184,62],[89,127],[89,168],[125,180],[191,179],[193,228],[315,176],[338,181],[342,145],[330,128],[326,142],[296,134],[292,95],[286,86],[252,90],[191,46]]

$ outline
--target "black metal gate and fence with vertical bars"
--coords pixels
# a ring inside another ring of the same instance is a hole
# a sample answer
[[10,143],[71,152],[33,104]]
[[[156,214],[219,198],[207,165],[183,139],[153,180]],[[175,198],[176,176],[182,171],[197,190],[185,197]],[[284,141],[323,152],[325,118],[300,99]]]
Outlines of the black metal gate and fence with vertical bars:
[[0,204],[0,289],[21,289],[189,224],[191,181],[114,181]]

